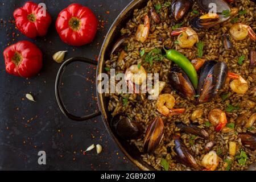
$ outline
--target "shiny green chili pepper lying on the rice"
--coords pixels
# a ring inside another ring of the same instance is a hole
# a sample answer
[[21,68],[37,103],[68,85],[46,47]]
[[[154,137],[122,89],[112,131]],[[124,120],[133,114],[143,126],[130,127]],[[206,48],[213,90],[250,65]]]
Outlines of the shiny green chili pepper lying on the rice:
[[189,61],[187,59],[187,57],[185,57],[183,54],[175,51],[174,49],[170,49],[170,50],[166,51],[166,57],[167,57],[167,59],[174,61],[174,63],[179,65],[179,67],[182,68],[185,73],[187,73],[193,86],[195,87],[195,89],[197,89],[198,77],[197,77],[196,69],[192,65],[191,61]]

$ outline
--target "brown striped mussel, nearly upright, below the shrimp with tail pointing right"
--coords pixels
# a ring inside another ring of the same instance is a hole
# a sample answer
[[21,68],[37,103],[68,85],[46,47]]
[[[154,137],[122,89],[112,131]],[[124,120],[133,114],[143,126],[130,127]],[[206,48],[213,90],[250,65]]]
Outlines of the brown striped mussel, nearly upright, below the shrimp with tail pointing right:
[[160,144],[163,139],[164,123],[162,118],[155,117],[146,130],[144,138],[143,151],[147,154],[152,154],[156,147]]

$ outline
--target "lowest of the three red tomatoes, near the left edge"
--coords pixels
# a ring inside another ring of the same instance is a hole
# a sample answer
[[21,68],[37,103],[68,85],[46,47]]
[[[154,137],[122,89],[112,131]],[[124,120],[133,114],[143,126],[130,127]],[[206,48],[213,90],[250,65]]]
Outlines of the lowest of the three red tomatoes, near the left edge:
[[35,44],[20,41],[3,51],[6,72],[20,77],[31,77],[42,68],[42,52]]

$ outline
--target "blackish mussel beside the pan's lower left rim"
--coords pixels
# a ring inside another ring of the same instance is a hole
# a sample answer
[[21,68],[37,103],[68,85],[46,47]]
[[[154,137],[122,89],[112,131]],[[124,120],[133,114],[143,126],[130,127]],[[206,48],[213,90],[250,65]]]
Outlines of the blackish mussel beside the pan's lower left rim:
[[141,124],[130,118],[123,117],[119,119],[120,115],[115,115],[111,121],[111,127],[119,137],[123,139],[138,139],[143,134],[143,128]]

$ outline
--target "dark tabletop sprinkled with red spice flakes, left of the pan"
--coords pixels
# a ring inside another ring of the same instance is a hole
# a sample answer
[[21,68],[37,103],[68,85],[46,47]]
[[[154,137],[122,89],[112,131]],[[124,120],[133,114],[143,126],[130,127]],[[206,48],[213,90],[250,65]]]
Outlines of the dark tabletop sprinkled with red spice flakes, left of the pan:
[[[52,60],[53,53],[68,50],[65,59],[84,56],[96,59],[104,36],[114,19],[131,0],[93,1],[36,1],[44,2],[52,16],[52,24],[44,38],[28,39],[15,30],[13,11],[26,1],[0,0],[0,48],[19,40],[34,42],[43,52],[43,69],[39,76],[29,79],[8,75],[3,56],[0,61],[0,169],[78,169],[78,170],[129,170],[138,169],[131,164],[107,133],[101,117],[86,122],[73,122],[64,117],[55,100],[55,77],[60,64]],[[61,42],[55,30],[59,12],[71,3],[90,7],[100,20],[96,39],[88,46],[72,47]],[[106,13],[109,11],[109,14]],[[102,22],[103,21],[103,22]],[[15,34],[14,34],[15,33]],[[96,67],[72,64],[63,78],[63,97],[68,109],[84,115],[97,109]],[[36,102],[26,100],[31,93]],[[101,144],[87,152],[91,144]],[[38,151],[46,151],[47,165],[38,165]]]

